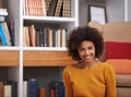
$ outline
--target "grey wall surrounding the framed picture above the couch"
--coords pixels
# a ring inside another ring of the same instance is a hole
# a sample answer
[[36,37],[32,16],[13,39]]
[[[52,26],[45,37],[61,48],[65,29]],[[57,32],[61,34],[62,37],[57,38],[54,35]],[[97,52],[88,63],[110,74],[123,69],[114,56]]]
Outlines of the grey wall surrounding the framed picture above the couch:
[[[124,22],[124,1],[126,0],[80,0],[79,24],[80,26],[88,23],[88,4],[106,7],[107,22]],[[131,0],[128,1],[128,21],[131,21]]]

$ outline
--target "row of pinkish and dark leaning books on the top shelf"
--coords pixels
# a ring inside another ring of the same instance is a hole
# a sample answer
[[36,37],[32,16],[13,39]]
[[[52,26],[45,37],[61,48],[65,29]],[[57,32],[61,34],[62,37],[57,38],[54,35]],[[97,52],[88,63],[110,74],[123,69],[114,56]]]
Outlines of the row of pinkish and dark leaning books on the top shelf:
[[71,16],[71,0],[24,0],[24,15]]

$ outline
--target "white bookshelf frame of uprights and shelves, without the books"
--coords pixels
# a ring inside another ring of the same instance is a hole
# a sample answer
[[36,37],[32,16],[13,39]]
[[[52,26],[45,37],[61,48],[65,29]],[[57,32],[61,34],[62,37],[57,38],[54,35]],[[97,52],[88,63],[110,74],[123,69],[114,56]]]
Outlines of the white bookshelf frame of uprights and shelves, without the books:
[[[0,51],[5,51],[4,54],[8,54],[7,51],[17,51],[19,62],[17,65],[5,65],[5,71],[8,73],[3,74],[3,77],[17,81],[17,97],[23,97],[23,80],[26,77],[24,76],[24,51],[67,51],[66,47],[23,47],[23,26],[26,23],[36,23],[38,25],[47,24],[55,27],[66,27],[69,29],[76,27],[79,26],[79,0],[71,0],[71,17],[27,16],[23,15],[23,0],[4,0],[4,2],[8,3],[7,8],[9,12],[9,19],[14,20],[15,46],[0,47]],[[35,66],[37,69],[37,64]],[[43,65],[43,68],[45,66]]]

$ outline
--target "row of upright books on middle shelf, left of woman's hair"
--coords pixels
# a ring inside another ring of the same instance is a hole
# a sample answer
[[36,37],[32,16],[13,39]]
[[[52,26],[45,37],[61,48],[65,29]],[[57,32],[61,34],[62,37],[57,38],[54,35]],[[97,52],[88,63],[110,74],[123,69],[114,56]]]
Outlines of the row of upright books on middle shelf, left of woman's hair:
[[24,26],[24,47],[67,47],[69,31],[64,28]]

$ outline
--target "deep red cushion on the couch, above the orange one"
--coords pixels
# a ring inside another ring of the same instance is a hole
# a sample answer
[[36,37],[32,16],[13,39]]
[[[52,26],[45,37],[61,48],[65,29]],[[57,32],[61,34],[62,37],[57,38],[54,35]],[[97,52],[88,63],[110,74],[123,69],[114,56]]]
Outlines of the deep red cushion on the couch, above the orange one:
[[131,59],[131,43],[106,41],[106,59]]

